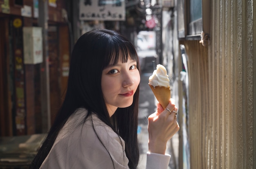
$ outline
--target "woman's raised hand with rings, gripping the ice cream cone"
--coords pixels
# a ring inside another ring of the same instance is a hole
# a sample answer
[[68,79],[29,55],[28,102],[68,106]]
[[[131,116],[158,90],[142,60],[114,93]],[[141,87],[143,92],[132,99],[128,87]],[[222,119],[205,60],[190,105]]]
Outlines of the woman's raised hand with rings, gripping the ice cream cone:
[[[177,107],[171,99],[167,109],[177,112]],[[157,103],[157,111],[148,117],[148,151],[165,154],[167,141],[180,129],[175,112],[164,110]]]

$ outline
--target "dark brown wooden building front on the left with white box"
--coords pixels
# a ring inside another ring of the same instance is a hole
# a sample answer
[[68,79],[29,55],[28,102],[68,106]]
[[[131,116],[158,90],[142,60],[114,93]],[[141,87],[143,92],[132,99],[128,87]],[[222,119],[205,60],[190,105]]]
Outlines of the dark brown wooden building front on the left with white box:
[[70,57],[65,5],[0,1],[0,136],[46,132],[54,119]]

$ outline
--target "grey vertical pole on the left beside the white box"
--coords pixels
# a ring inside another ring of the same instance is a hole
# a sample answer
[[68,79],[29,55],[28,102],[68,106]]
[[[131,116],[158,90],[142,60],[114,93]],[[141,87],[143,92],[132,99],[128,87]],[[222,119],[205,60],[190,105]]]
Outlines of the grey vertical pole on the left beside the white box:
[[50,81],[49,81],[49,52],[48,52],[48,1],[38,0],[38,26],[43,30],[43,63],[40,65],[40,95],[42,113],[42,132],[46,133],[51,127]]

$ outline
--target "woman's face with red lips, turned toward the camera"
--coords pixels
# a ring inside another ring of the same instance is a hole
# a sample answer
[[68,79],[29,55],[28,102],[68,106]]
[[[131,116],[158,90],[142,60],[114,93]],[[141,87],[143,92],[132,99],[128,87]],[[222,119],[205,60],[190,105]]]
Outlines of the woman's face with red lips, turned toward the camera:
[[132,105],[133,95],[140,82],[137,62],[130,57],[126,63],[120,60],[102,71],[101,89],[110,116],[117,108]]

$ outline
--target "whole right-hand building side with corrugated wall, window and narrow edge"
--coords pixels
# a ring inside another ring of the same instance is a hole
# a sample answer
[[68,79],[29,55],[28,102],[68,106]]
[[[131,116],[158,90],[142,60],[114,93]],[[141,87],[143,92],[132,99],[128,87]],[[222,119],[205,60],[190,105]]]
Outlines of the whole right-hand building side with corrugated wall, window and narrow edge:
[[254,169],[256,1],[197,1],[202,35],[195,1],[175,2],[170,46],[183,141],[179,169]]

